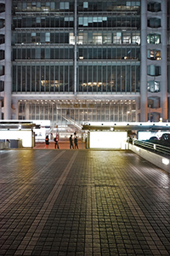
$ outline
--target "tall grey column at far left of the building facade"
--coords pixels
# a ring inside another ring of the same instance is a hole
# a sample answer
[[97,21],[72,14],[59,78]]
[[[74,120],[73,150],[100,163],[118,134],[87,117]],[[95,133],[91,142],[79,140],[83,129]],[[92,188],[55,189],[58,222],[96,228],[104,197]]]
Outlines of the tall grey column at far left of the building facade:
[[11,0],[5,1],[4,119],[11,119]]

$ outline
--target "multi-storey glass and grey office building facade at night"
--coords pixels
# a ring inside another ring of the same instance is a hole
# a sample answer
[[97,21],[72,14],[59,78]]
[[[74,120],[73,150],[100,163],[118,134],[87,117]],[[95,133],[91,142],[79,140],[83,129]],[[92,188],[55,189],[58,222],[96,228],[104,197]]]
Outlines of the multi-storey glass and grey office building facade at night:
[[170,0],[0,0],[0,119],[170,119]]

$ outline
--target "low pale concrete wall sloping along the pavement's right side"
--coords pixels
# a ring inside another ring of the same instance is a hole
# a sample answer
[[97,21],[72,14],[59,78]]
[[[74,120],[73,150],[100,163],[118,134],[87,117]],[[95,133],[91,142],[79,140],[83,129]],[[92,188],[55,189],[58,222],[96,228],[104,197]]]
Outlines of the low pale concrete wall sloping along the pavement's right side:
[[164,157],[159,154],[152,153],[147,149],[139,148],[130,143],[129,143],[129,149],[132,150],[135,154],[139,154],[139,156],[141,156],[145,160],[148,160],[150,163],[170,173],[170,158],[168,156]]

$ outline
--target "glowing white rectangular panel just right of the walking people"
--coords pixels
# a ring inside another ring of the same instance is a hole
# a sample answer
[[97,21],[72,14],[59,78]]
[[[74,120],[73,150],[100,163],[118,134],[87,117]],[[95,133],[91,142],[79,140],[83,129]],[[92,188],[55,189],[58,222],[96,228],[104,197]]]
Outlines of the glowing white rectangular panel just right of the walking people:
[[127,141],[126,131],[91,131],[90,148],[122,148]]

